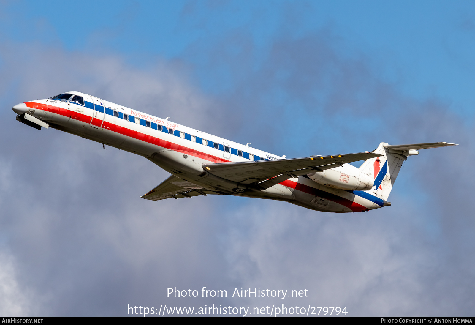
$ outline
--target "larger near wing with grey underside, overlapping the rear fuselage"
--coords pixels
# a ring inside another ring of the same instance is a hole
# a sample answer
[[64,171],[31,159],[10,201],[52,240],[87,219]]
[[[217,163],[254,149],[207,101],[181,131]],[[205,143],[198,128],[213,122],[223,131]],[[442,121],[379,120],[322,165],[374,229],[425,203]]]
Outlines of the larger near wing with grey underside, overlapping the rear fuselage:
[[321,172],[341,166],[343,163],[379,156],[381,154],[364,152],[255,162],[204,163],[203,169],[229,181],[241,184],[257,183],[258,187],[266,189],[291,177],[298,177],[312,171]]

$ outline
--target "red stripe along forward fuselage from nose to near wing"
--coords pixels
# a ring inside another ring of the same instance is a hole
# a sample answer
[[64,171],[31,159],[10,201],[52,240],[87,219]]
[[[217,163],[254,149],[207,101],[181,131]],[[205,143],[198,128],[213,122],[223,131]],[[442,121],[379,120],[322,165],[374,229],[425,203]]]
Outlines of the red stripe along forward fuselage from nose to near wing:
[[[45,110],[45,111],[48,111],[48,112],[51,112],[51,113],[54,113],[54,114],[58,114],[58,115],[66,116],[66,117],[71,117],[71,118],[74,118],[75,120],[78,120],[78,121],[81,121],[81,122],[84,122],[84,123],[87,123],[87,124],[91,123],[91,116],[84,115],[84,114],[81,114],[81,113],[78,113],[78,112],[75,112],[75,111],[72,111],[72,110],[68,110],[68,109],[53,106],[53,105],[40,104],[40,103],[26,102],[25,104],[29,108],[41,109],[41,110]],[[96,121],[99,121],[99,123],[97,123]],[[93,125],[100,126],[101,123],[102,123],[102,120],[94,118]],[[195,155],[197,158],[209,160],[211,162],[230,162],[230,160],[219,158],[219,157],[216,157],[216,156],[212,156],[212,155],[209,155],[208,153],[203,153],[203,152],[200,152],[198,150],[194,150],[194,149],[191,149],[191,148],[188,148],[188,147],[185,147],[185,146],[182,146],[182,145],[170,142],[170,141],[166,141],[166,140],[163,140],[163,139],[160,139],[160,138],[156,138],[156,137],[153,137],[153,136],[148,135],[148,134],[143,134],[141,132],[133,131],[133,130],[127,129],[123,126],[108,123],[105,120],[104,120],[104,124],[102,124],[102,127],[106,128],[107,130],[110,130],[110,131],[113,131],[113,132],[116,132],[116,133],[119,133],[119,134],[123,134],[123,135],[129,136],[129,137],[137,139],[137,140],[141,140],[141,141],[144,141],[144,142],[147,142],[147,143],[152,143],[152,144],[158,145],[158,146],[163,147],[163,148],[167,148],[167,149],[170,149],[170,150],[173,150],[173,151],[177,151],[179,153],[186,153],[186,154],[189,154],[191,156]],[[158,131],[158,130],[156,130],[156,131],[161,132],[161,131]],[[172,136],[174,136],[174,135],[172,135]]]

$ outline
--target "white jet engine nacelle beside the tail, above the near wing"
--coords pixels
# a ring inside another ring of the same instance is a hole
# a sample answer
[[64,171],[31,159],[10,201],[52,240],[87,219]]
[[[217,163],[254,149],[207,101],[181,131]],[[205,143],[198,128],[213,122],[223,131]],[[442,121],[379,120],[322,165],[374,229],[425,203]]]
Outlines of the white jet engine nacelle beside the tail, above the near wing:
[[329,187],[350,191],[371,190],[374,180],[350,164],[341,167],[314,172],[307,175],[311,180]]

